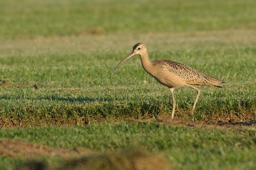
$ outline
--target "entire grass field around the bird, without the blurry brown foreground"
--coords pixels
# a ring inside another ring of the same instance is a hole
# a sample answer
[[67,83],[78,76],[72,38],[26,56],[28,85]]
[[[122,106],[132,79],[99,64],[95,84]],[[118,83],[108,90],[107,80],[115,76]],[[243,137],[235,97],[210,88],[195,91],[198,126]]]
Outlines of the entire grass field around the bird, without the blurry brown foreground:
[[[255,125],[255,8],[249,0],[1,1],[0,137],[101,153],[143,148],[175,169],[255,169],[255,126],[216,127]],[[150,59],[226,82],[201,87],[193,116],[195,91],[175,89],[175,116],[196,128],[156,121],[170,115],[172,98],[138,56],[109,79],[137,42]],[[0,169],[26,161],[0,155]]]

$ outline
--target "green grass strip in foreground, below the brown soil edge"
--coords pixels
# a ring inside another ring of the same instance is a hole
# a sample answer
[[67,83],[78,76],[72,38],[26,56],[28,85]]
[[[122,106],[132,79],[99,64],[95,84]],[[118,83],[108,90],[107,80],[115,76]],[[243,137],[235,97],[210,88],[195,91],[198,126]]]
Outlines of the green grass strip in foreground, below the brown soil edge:
[[[172,166],[180,169],[253,169],[255,136],[255,129],[250,128],[205,130],[154,122],[12,128],[0,132],[0,137],[61,148],[83,146],[104,152],[143,146],[153,153],[164,152]],[[7,159],[6,162],[8,165],[12,161]]]

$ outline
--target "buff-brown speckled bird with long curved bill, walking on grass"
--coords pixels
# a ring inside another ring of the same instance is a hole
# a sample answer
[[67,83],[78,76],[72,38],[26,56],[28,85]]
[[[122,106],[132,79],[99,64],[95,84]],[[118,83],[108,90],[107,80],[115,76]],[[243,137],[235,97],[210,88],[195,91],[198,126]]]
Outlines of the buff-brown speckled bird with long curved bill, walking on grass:
[[122,65],[124,61],[131,58],[135,55],[140,56],[141,65],[144,70],[152,75],[154,79],[160,84],[166,86],[172,95],[172,119],[174,118],[176,100],[174,96],[174,89],[182,86],[188,86],[189,88],[195,89],[197,92],[195,102],[193,104],[192,113],[195,110],[196,103],[201,93],[201,89],[196,88],[195,85],[200,86],[215,86],[217,88],[223,88],[221,83],[225,83],[219,79],[206,75],[204,73],[198,72],[195,68],[192,68],[187,65],[183,65],[182,63],[178,63],[175,61],[170,61],[167,59],[157,59],[154,61],[150,61],[148,58],[148,50],[147,47],[143,43],[136,43],[133,46],[132,52],[126,56],[116,67],[110,75],[112,78],[113,73],[118,68],[118,66]]

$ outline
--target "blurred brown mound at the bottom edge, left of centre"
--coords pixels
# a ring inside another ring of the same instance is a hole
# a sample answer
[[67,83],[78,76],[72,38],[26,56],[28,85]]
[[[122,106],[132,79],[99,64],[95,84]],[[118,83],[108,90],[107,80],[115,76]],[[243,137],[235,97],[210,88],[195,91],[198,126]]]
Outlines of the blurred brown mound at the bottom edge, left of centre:
[[163,155],[148,155],[143,150],[116,151],[67,160],[59,169],[170,169]]

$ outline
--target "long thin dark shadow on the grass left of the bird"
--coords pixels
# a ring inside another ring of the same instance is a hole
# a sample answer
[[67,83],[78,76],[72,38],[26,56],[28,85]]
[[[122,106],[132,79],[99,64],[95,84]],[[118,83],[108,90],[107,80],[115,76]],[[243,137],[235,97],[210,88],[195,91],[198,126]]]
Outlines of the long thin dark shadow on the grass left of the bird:
[[49,101],[64,101],[64,102],[109,102],[110,98],[92,98],[92,97],[0,97],[0,100],[49,100]]

